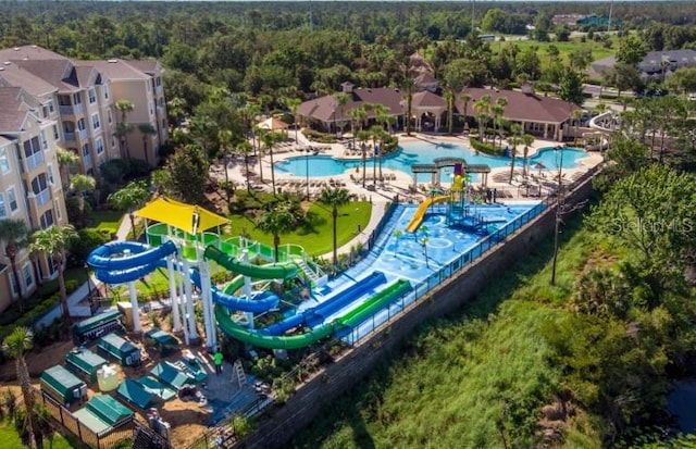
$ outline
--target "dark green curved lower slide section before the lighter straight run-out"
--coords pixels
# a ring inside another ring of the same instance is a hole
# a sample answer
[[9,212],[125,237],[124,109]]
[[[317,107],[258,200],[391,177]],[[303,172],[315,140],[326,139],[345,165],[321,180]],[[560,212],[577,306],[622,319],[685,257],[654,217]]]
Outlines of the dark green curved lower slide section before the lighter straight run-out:
[[324,337],[331,335],[334,330],[332,323],[322,324],[314,327],[308,333],[300,335],[261,335],[257,332],[247,329],[235,323],[229,316],[229,312],[223,305],[215,304],[215,319],[217,326],[225,334],[246,344],[266,349],[299,349],[304,348]]

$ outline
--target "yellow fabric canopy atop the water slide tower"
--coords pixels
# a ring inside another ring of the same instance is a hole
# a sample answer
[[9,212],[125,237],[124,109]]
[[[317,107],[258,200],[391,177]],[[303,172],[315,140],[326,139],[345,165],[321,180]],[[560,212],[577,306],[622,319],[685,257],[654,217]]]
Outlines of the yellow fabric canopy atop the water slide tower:
[[[227,224],[224,216],[214,214],[198,205],[190,205],[171,198],[158,198],[135,213],[137,216],[166,223],[188,234],[200,234],[211,227]],[[198,215],[197,224],[196,215]],[[194,229],[194,226],[196,226]]]

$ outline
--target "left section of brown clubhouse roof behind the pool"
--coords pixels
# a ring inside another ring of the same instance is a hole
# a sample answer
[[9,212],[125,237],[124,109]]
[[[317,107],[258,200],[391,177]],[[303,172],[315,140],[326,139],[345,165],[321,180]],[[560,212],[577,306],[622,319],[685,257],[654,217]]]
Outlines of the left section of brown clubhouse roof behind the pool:
[[[383,104],[389,109],[389,115],[401,115],[403,96],[399,89],[388,87],[358,88],[348,95],[346,104],[339,104],[336,96],[327,95],[314,100],[304,101],[297,109],[297,113],[322,122],[345,122],[350,120],[350,110],[365,103]],[[368,111],[368,117],[374,117],[374,111]]]

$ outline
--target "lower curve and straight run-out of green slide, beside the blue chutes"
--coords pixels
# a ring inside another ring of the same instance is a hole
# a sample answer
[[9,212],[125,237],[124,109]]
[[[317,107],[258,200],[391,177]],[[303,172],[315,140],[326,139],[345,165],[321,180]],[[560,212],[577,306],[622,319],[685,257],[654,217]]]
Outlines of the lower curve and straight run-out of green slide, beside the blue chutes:
[[410,289],[411,283],[406,279],[399,279],[336,321],[323,323],[300,335],[264,335],[258,330],[247,329],[235,323],[225,308],[220,304],[215,304],[215,319],[225,334],[246,344],[266,349],[299,349],[330,336],[337,325],[341,326],[340,333],[345,334],[350,327],[362,323],[381,308]]

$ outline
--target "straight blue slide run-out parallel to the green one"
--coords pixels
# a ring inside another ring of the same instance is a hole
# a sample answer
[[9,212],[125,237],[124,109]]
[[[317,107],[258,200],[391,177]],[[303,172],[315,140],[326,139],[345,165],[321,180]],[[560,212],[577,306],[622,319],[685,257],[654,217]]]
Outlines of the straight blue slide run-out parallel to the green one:
[[336,313],[336,311],[343,309],[356,298],[373,290],[386,282],[387,278],[384,273],[374,272],[364,279],[351,285],[315,308],[308,309],[302,313],[295,314],[286,320],[274,323],[263,329],[260,329],[259,333],[262,335],[283,335],[288,329],[297,327],[300,324],[310,327],[318,326],[323,323],[327,316]]

